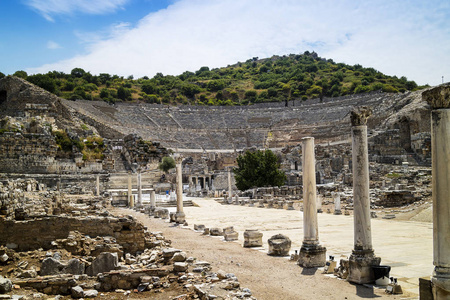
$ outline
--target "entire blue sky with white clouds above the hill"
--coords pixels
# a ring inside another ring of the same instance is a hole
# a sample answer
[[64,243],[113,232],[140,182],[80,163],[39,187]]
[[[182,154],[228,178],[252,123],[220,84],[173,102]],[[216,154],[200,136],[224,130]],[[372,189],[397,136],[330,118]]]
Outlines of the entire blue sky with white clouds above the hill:
[[0,72],[178,75],[316,51],[450,81],[448,0],[0,0]]

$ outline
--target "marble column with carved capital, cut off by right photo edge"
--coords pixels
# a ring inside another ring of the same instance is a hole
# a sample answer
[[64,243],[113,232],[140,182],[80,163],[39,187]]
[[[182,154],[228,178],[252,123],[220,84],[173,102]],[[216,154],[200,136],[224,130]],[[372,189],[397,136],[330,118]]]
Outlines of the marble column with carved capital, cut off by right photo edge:
[[433,299],[450,299],[450,84],[425,91],[431,106]]

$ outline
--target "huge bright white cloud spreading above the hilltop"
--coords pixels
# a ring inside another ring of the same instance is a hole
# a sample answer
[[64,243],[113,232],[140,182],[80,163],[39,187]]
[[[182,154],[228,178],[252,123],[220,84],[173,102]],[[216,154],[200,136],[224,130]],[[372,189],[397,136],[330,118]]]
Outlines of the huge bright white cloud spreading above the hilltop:
[[447,2],[336,2],[181,0],[134,28],[116,27],[120,30],[111,30],[108,38],[89,44],[86,55],[30,71],[81,67],[96,74],[177,75],[254,56],[314,50],[336,62],[407,76],[419,84],[438,84],[448,74]]

